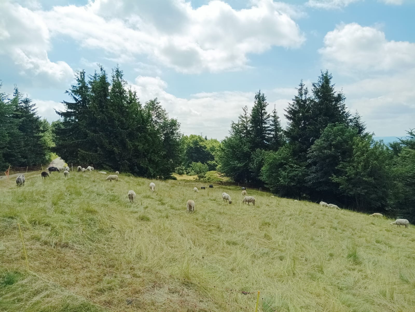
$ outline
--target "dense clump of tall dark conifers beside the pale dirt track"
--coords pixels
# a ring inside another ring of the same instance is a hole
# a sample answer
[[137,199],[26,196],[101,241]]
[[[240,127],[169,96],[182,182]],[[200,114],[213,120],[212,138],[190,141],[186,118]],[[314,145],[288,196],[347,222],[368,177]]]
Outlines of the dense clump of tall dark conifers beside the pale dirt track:
[[110,81],[102,66],[89,81],[81,71],[66,93],[73,102],[63,102],[62,121],[52,124],[57,154],[68,162],[171,178],[181,161],[180,124],[156,98],[142,107],[120,68]]

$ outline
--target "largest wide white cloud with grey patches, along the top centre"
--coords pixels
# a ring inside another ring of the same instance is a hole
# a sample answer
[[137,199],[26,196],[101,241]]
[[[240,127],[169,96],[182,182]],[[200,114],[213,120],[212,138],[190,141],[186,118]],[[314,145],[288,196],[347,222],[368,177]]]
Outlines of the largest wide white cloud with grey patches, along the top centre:
[[305,40],[290,17],[300,11],[272,0],[256,0],[244,10],[218,0],[197,9],[184,0],[155,2],[95,0],[54,7],[43,17],[52,34],[101,49],[117,61],[144,54],[183,73],[245,68],[249,54],[272,46],[297,48]]

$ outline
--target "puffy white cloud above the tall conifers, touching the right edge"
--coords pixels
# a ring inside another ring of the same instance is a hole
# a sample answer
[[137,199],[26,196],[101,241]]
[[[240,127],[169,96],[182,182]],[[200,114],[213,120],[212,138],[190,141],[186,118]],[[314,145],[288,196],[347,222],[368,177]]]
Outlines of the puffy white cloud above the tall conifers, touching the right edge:
[[328,32],[319,53],[325,66],[342,73],[399,71],[415,66],[415,43],[388,41],[381,30],[356,23]]

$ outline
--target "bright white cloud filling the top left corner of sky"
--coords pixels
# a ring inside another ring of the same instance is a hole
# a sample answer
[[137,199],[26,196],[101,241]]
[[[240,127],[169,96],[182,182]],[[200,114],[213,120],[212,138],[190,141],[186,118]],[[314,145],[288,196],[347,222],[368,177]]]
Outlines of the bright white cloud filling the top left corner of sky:
[[52,81],[73,78],[73,71],[67,63],[49,60],[49,30],[37,12],[7,1],[0,3],[0,12],[2,57],[8,57],[20,66],[23,74]]

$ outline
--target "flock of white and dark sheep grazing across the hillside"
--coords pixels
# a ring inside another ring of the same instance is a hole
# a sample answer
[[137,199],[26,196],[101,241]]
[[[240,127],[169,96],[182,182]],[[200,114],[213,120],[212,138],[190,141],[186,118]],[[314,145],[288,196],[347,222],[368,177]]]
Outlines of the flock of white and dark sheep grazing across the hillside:
[[[49,170],[49,174],[51,172],[54,172],[54,171],[61,172],[63,170],[63,175],[65,176],[65,178],[69,176],[69,167],[53,167],[52,166],[52,167],[49,167],[48,170]],[[88,166],[87,168],[82,168],[81,166],[78,166],[78,168],[77,168],[78,172],[93,171],[93,170],[94,170],[94,167],[92,167],[92,166]],[[107,174],[105,171],[99,171],[99,173]],[[49,174],[46,171],[42,171],[41,172],[42,179],[43,178],[46,179],[47,177],[49,177]],[[118,181],[118,175],[119,174],[120,173],[118,171],[115,171],[115,174],[107,176],[107,178],[105,180]],[[25,181],[25,178],[24,178],[23,174],[17,176],[16,184],[17,184],[18,187],[24,185],[24,181]],[[150,185],[149,185],[149,189],[150,189],[151,192],[154,192],[156,190],[156,185],[153,182],[151,182]],[[193,188],[193,191],[195,193],[199,193],[198,188]],[[134,202],[134,199],[136,197],[136,193],[133,190],[129,190],[127,196],[128,196],[128,199],[129,199],[130,202]],[[248,203],[248,205],[251,202],[252,204],[255,205],[255,198],[253,196],[247,196],[247,190],[245,188],[242,188],[242,196],[244,196],[244,199],[242,200],[242,202],[244,202],[245,204]],[[274,197],[274,196],[271,196],[271,197]],[[224,202],[228,202],[229,204],[232,204],[232,200],[231,200],[230,195],[225,193],[225,192],[222,193],[222,199],[223,199]],[[297,202],[298,200],[294,200],[294,201]],[[337,205],[327,204],[327,202],[320,202],[320,206],[340,210],[340,208]],[[195,211],[195,202],[194,202],[194,200],[189,199],[186,203],[186,208],[187,208],[188,212],[194,212]],[[378,213],[378,212],[375,212],[375,213],[371,214],[370,216],[371,217],[383,217],[383,215],[381,213]],[[393,224],[396,224],[398,227],[403,225],[403,226],[405,226],[405,228],[408,229],[409,221],[407,219],[396,219],[396,221],[391,222],[391,225],[393,225]]]

